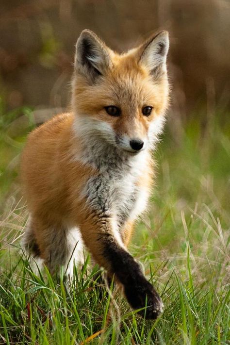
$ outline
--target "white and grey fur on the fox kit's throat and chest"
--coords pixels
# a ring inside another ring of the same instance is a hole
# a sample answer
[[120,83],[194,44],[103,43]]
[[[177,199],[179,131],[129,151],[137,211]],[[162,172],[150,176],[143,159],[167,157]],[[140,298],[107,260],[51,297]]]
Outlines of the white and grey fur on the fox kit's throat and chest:
[[99,175],[90,178],[84,189],[89,206],[97,213],[104,213],[116,219],[119,228],[127,220],[134,220],[146,208],[148,190],[138,185],[145,179],[148,151],[122,161],[117,156],[107,162],[102,160]]

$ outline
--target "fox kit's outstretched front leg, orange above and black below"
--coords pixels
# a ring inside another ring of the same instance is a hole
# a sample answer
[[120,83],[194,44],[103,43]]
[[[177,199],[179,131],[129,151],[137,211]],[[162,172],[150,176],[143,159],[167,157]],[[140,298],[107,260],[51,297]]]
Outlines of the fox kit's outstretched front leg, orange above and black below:
[[131,307],[140,309],[147,305],[147,310],[139,313],[148,319],[157,318],[163,310],[161,298],[123,245],[115,219],[108,212],[87,213],[81,231],[94,260],[123,285]]

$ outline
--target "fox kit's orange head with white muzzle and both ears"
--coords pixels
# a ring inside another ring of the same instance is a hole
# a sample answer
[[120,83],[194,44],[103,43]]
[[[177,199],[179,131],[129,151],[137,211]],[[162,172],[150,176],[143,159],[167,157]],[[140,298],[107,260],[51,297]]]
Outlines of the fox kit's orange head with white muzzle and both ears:
[[130,154],[150,148],[168,100],[168,33],[151,36],[124,54],[82,31],[75,55],[72,107],[85,135]]

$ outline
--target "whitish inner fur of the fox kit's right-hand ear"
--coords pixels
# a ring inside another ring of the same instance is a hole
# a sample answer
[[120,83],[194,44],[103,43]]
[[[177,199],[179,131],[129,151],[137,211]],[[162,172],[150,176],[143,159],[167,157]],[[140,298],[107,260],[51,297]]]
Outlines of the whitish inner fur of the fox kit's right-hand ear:
[[140,63],[145,65],[149,71],[157,66],[166,63],[166,57],[169,48],[168,32],[159,33],[148,46],[144,49]]

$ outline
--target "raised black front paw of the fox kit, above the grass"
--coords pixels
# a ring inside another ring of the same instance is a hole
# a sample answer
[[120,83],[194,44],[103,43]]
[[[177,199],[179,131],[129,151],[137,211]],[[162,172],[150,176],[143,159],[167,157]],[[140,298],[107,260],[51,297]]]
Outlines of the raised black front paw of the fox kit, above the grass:
[[145,277],[139,277],[134,284],[124,286],[125,295],[133,309],[145,308],[138,312],[146,319],[156,319],[162,312],[164,304],[154,287]]

